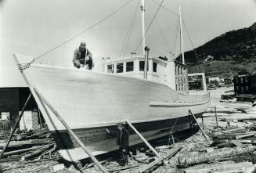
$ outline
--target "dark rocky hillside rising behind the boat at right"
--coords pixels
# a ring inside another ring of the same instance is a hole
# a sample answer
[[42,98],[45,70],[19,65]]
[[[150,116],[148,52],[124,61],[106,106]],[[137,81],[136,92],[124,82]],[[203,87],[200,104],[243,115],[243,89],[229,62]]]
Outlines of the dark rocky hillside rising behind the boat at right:
[[193,51],[185,52],[189,73],[204,71],[207,76],[229,77],[256,71],[256,23],[229,31]]

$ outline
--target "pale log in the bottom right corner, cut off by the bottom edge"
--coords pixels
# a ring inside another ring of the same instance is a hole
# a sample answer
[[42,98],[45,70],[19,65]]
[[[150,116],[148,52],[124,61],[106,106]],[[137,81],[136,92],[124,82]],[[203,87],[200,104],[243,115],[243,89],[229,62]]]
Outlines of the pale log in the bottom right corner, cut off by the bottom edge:
[[218,164],[210,164],[206,165],[203,168],[186,168],[184,172],[186,173],[204,173],[204,172],[252,172],[254,171],[254,164],[251,162],[243,162],[243,163],[218,163]]

